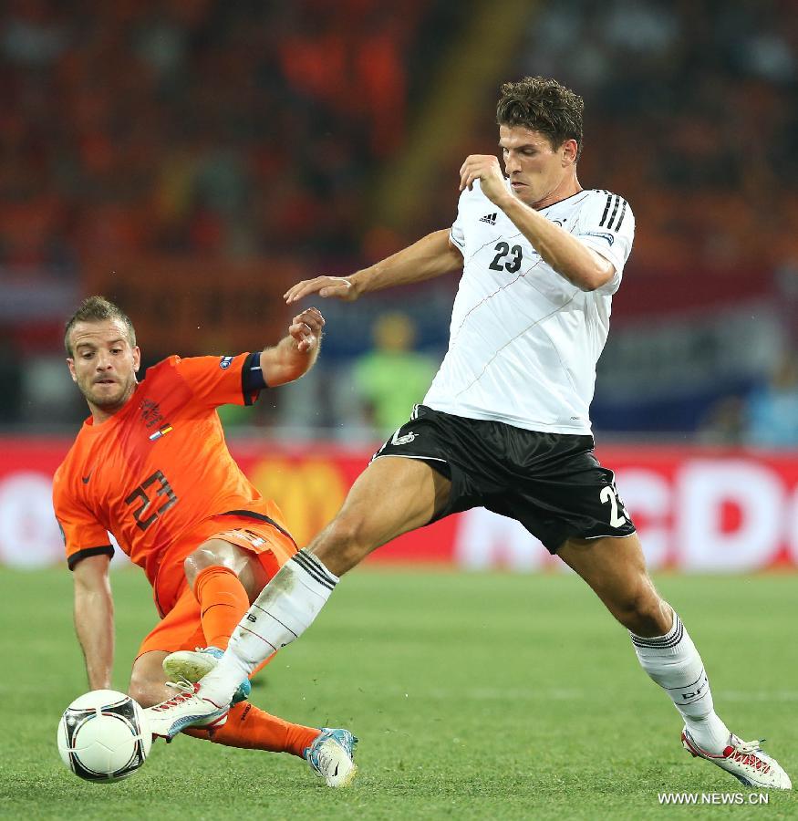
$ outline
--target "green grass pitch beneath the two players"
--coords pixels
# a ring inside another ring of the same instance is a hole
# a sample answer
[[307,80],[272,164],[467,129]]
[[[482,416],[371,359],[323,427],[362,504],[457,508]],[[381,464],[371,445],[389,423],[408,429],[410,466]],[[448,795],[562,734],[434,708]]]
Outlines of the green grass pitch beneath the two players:
[[[114,685],[155,620],[136,571],[113,575]],[[715,704],[744,738],[766,736],[798,776],[798,578],[660,577],[710,671]],[[139,773],[81,782],[56,726],[88,688],[66,569],[0,570],[0,816],[157,818],[584,818],[798,816],[767,806],[666,807],[662,791],[746,792],[679,744],[679,715],[630,642],[573,576],[365,568],[261,674],[253,701],[360,737],[347,790],[288,755],[181,736]]]

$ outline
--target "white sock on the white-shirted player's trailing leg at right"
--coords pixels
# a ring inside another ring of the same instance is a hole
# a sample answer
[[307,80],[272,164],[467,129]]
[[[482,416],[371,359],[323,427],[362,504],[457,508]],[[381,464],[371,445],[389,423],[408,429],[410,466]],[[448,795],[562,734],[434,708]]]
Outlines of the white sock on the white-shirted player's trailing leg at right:
[[708,753],[722,753],[729,728],[715,714],[704,664],[676,612],[664,636],[629,636],[643,670],[668,692],[695,742]]

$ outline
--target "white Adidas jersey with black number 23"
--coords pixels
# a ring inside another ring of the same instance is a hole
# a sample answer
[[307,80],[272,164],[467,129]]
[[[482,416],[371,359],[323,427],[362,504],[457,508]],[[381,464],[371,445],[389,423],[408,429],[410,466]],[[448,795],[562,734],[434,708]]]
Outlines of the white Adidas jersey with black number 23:
[[530,431],[589,434],[596,362],[635,219],[622,197],[595,190],[540,213],[606,257],[615,276],[596,291],[572,285],[475,182],[462,192],[451,227],[463,273],[449,351],[424,404]]

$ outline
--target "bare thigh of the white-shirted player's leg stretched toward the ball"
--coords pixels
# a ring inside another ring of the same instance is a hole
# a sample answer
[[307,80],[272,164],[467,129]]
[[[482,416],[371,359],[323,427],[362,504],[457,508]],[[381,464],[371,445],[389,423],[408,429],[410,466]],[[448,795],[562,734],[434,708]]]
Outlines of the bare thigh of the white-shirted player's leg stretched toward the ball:
[[358,476],[336,518],[310,549],[337,575],[375,548],[430,523],[451,481],[420,459],[381,456]]

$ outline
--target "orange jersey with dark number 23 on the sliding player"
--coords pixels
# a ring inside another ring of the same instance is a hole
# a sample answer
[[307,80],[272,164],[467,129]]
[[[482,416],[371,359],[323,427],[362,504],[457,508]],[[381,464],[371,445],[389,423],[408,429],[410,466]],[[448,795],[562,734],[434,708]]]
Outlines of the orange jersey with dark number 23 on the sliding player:
[[121,411],[83,423],[53,482],[70,567],[112,554],[110,532],[154,586],[170,546],[203,520],[244,513],[272,521],[272,505],[233,462],[215,410],[257,398],[246,379],[257,357],[164,359]]

